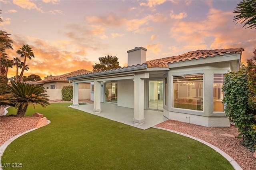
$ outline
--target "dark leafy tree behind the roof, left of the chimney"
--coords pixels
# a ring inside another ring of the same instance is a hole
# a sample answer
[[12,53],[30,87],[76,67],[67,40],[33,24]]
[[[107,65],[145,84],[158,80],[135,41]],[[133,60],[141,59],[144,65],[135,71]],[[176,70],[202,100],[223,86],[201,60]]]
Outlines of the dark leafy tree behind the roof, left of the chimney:
[[93,65],[93,70],[94,72],[98,71],[104,71],[104,70],[109,70],[109,69],[116,69],[120,68],[118,58],[116,56],[105,56],[105,57],[99,57],[100,64],[95,63]]

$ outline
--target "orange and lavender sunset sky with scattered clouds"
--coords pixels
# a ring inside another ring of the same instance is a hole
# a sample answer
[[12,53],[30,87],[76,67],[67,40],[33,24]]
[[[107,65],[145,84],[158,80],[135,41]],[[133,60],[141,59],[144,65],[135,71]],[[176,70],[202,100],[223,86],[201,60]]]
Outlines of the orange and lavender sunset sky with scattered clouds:
[[[246,63],[256,48],[256,29],[234,22],[239,0],[0,0],[1,30],[10,34],[19,57],[32,47],[25,76],[92,71],[99,57],[118,57],[127,66],[127,51],[144,47],[147,61],[198,49],[243,47]],[[20,71],[19,71],[20,74]],[[8,77],[16,75],[10,68]]]

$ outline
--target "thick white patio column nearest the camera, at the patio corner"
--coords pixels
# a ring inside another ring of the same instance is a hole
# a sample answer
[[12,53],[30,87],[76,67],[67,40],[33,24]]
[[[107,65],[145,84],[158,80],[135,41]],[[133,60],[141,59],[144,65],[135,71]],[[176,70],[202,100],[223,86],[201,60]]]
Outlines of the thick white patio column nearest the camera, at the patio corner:
[[134,118],[135,125],[144,124],[144,79],[149,78],[149,73],[136,73],[134,75]]

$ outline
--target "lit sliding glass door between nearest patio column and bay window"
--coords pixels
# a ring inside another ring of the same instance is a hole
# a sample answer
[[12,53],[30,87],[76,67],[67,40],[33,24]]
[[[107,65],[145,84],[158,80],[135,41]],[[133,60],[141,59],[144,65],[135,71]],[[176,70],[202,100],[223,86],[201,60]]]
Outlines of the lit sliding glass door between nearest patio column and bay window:
[[164,83],[162,80],[149,81],[148,109],[163,110]]

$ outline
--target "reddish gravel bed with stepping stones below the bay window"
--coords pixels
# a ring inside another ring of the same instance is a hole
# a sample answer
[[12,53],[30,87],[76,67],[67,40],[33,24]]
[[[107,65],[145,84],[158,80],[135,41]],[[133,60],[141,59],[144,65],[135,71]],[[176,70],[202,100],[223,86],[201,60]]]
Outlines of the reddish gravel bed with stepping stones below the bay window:
[[[168,120],[156,125],[156,127],[175,130],[202,139],[226,152],[226,154],[231,156],[243,170],[256,170],[256,158],[253,157],[253,152],[250,152],[245,146],[240,144],[241,139],[236,138],[238,129],[232,125],[230,127],[203,127]],[[202,132],[212,132],[212,135],[203,134]],[[232,138],[221,135],[225,133],[232,134],[236,137]]]

